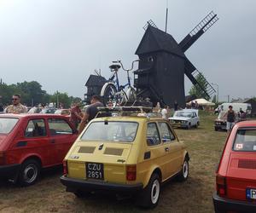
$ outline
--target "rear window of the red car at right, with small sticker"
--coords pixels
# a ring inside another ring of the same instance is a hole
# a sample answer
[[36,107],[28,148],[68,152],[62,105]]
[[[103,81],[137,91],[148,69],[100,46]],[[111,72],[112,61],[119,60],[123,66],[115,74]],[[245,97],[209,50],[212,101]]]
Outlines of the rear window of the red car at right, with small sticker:
[[256,130],[237,130],[233,150],[256,152]]

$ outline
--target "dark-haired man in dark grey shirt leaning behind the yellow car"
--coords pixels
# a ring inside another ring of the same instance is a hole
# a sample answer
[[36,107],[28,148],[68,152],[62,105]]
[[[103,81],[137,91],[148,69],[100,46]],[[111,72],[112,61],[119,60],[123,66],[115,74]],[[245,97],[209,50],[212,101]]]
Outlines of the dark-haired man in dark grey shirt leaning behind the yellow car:
[[79,134],[84,130],[86,124],[96,117],[96,114],[99,112],[97,107],[104,107],[104,105],[102,104],[98,95],[93,95],[90,99],[90,106],[87,107],[86,112],[79,124]]

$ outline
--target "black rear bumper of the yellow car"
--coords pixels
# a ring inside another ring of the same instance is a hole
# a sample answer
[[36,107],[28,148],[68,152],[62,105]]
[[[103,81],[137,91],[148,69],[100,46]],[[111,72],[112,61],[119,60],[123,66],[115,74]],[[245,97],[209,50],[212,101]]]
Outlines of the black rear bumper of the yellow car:
[[88,191],[110,191],[113,193],[137,193],[143,189],[143,183],[117,184],[104,181],[87,181],[61,176],[61,183],[67,187],[67,192],[75,193],[78,190]]

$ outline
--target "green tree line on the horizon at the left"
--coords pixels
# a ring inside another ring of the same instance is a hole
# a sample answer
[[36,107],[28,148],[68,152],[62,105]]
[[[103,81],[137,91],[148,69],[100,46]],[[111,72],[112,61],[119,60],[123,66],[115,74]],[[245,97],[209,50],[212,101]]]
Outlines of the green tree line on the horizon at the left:
[[36,106],[39,103],[50,103],[54,102],[55,105],[59,103],[63,107],[70,107],[74,100],[81,99],[79,97],[68,96],[67,93],[55,92],[53,95],[47,94],[45,90],[42,89],[42,85],[37,81],[32,82],[22,82],[13,84],[0,84],[0,103],[3,105],[9,105],[11,103],[11,97],[14,94],[19,94],[21,96],[21,102],[26,104],[26,106]]

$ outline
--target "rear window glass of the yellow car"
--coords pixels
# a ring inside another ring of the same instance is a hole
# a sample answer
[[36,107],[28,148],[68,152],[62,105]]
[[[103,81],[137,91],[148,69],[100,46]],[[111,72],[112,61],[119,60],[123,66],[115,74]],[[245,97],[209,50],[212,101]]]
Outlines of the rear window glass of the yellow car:
[[137,127],[136,122],[93,122],[85,130],[81,140],[132,142],[137,135]]

